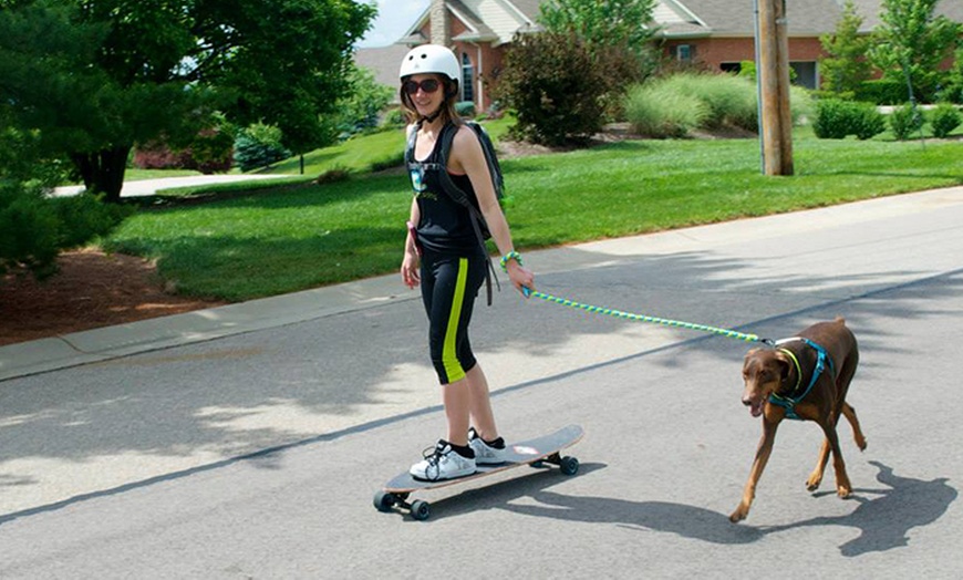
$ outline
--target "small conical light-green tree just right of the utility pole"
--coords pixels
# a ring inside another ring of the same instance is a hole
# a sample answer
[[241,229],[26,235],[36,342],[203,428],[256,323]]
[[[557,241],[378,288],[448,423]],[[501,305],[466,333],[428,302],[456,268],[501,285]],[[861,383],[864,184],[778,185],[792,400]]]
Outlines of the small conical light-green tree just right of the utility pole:
[[856,11],[852,0],[842,8],[842,18],[836,23],[836,32],[819,39],[822,50],[828,54],[819,60],[822,87],[840,95],[855,95],[863,81],[870,76],[866,62],[869,37],[862,35],[859,28],[862,17]]

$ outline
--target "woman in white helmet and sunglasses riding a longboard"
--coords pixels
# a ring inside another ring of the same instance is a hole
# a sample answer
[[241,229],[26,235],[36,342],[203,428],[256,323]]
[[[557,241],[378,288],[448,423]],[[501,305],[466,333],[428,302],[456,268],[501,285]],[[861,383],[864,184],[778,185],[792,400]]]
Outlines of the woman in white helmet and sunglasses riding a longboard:
[[[501,463],[505,456],[488,382],[468,341],[489,258],[475,234],[475,218],[445,191],[438,172],[447,170],[460,189],[475,196],[511,284],[519,291],[535,288],[534,275],[512,246],[478,137],[455,111],[460,74],[455,54],[435,44],[408,52],[398,73],[401,102],[412,123],[407,131],[416,132],[408,166],[414,198],[401,275],[408,288],[421,287],[448,425],[446,437],[411,468],[414,477],[428,480],[470,475],[477,464]],[[456,133],[447,167],[439,167],[438,137],[449,124]]]

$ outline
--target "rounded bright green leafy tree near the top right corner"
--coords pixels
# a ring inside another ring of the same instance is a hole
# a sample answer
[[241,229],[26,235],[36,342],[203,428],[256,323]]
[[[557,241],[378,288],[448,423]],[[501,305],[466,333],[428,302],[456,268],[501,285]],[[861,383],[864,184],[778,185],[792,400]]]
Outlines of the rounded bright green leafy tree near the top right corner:
[[883,79],[908,83],[913,94],[932,97],[940,84],[939,64],[953,53],[963,29],[933,17],[940,0],[883,0],[870,61]]

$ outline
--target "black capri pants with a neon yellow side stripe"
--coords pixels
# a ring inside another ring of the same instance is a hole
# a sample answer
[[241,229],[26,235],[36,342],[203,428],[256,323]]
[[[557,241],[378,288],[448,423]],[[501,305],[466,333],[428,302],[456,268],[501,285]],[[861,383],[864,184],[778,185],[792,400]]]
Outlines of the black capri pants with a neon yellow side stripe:
[[441,384],[460,381],[475,364],[468,323],[485,282],[487,256],[426,250],[422,257],[422,300],[428,314],[428,348]]

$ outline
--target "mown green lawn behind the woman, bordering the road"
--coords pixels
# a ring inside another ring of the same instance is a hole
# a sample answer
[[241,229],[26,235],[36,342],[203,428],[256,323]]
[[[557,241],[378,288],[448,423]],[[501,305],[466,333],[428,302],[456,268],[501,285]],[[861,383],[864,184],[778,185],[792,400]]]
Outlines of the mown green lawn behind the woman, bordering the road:
[[[410,186],[401,172],[364,172],[400,158],[403,141],[383,133],[308,156],[309,176],[340,168],[353,172],[348,180],[139,211],[103,246],[157,259],[182,293],[230,301],[393,272]],[[524,251],[963,184],[960,141],[822,141],[803,128],[794,160],[793,177],[760,175],[756,139],[630,141],[505,159],[508,219]]]

